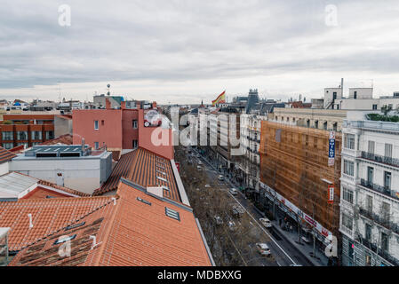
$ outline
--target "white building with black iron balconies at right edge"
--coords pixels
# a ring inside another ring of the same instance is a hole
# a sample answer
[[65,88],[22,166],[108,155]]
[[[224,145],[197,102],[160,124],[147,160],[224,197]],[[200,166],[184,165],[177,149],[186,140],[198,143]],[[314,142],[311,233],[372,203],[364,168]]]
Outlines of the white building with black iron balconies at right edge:
[[343,123],[340,225],[344,265],[399,265],[399,123]]

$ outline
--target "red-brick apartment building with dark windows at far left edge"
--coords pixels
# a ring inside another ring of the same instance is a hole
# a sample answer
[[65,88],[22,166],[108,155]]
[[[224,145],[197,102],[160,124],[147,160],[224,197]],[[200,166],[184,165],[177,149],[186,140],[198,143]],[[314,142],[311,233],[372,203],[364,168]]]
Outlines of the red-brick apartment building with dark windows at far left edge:
[[0,143],[5,149],[35,146],[54,138],[55,114],[3,114]]

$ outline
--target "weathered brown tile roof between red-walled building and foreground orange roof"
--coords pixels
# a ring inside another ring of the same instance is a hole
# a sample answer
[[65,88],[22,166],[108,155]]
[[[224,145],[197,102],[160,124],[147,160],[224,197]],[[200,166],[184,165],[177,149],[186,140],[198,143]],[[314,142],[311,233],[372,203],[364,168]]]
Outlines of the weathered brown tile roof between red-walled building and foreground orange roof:
[[171,161],[146,149],[138,148],[135,151],[123,154],[119,162],[116,163],[107,182],[99,190],[94,191],[93,195],[116,190],[121,177],[132,180],[133,183],[144,187],[164,185],[165,197],[173,201],[181,201]]

